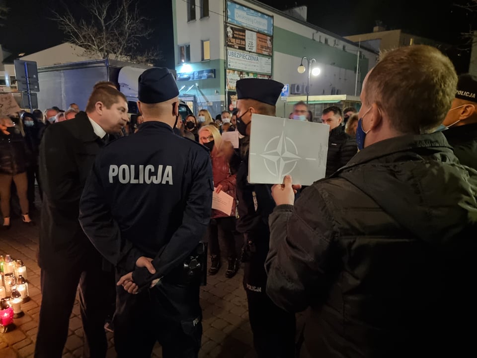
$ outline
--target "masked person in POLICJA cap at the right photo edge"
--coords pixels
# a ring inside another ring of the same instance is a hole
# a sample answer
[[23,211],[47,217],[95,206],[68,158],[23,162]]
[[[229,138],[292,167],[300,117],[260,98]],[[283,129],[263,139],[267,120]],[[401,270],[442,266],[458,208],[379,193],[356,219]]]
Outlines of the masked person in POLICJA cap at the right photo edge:
[[457,94],[444,119],[443,131],[461,164],[477,170],[477,77],[459,76]]

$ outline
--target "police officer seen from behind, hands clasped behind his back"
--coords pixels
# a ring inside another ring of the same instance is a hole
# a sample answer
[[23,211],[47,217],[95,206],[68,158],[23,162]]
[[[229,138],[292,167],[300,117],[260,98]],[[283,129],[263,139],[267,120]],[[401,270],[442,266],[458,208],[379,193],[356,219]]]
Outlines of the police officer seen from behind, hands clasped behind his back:
[[178,94],[167,69],[139,77],[144,123],[105,147],[81,196],[81,226],[117,269],[119,358],[151,357],[156,341],[164,358],[197,357],[200,349],[204,271],[196,251],[214,186],[208,149],[172,132]]

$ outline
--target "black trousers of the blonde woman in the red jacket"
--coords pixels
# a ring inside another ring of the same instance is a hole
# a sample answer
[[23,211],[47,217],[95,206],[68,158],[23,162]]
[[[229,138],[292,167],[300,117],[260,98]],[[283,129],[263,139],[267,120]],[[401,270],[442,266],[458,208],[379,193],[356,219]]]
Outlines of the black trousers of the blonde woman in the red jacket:
[[228,259],[237,259],[235,245],[235,217],[223,217],[211,220],[208,228],[209,253],[220,257],[219,240],[223,240],[227,249]]

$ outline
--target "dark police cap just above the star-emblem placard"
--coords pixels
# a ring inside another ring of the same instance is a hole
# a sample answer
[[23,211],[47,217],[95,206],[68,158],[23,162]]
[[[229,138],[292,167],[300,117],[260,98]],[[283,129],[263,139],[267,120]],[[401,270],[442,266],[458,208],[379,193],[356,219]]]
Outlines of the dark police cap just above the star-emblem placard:
[[248,78],[237,81],[237,99],[255,99],[275,105],[283,89],[283,84],[273,80]]

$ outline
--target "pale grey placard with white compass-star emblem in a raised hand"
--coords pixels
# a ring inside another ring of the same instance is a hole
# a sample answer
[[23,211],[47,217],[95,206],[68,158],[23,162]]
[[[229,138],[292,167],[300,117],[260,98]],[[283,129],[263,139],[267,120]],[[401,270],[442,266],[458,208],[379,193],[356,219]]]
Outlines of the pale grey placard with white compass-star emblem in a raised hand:
[[295,184],[311,185],[324,178],[328,136],[327,124],[253,114],[249,182],[281,184],[291,175]]

